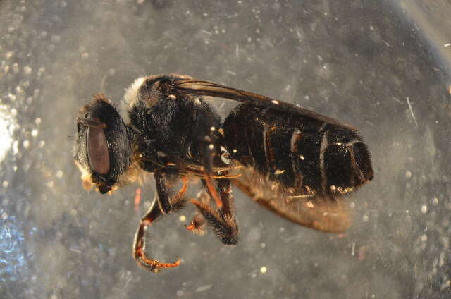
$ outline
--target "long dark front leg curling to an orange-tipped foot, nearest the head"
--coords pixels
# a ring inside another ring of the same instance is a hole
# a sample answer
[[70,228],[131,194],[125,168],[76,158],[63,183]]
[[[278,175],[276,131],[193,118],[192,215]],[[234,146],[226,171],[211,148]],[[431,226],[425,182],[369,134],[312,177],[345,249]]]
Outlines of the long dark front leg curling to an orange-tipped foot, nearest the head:
[[182,176],[181,178],[183,180],[183,187],[176,195],[170,198],[169,193],[171,192],[171,187],[180,179],[180,174],[176,169],[171,168],[161,169],[155,172],[157,196],[149,208],[149,211],[142,217],[140,226],[138,226],[135,234],[133,257],[135,257],[138,265],[154,273],[157,273],[164,268],[177,267],[180,264],[180,258],[172,263],[161,263],[159,260],[147,257],[145,251],[147,245],[147,227],[162,214],[168,214],[169,212],[181,209],[185,203],[187,178],[185,176]]

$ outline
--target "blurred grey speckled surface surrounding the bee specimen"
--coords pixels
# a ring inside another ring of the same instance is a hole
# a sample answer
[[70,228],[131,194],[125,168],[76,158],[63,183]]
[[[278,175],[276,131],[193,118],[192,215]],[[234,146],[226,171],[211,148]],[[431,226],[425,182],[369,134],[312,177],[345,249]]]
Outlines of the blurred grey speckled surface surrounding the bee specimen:
[[[0,0],[0,298],[450,298],[450,15],[445,0]],[[138,185],[83,190],[75,118],[157,73],[359,128],[376,176],[350,197],[350,230],[291,224],[235,190],[237,246],[187,232],[187,207],[149,248],[180,267],[137,267],[154,182],[137,207]]]

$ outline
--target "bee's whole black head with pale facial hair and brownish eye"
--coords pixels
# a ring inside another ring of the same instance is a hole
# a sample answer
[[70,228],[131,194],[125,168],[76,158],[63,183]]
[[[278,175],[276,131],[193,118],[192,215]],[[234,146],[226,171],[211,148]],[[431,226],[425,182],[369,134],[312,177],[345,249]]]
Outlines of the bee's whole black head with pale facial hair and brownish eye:
[[100,193],[121,186],[132,167],[132,137],[118,111],[104,94],[96,94],[80,109],[75,164],[85,189]]

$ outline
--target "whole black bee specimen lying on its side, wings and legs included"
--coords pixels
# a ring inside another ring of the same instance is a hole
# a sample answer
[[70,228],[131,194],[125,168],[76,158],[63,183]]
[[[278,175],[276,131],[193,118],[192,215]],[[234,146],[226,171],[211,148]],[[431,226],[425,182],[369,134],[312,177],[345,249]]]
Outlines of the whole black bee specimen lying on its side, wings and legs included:
[[[204,97],[240,104],[222,121]],[[85,188],[100,193],[153,173],[156,196],[138,226],[133,257],[155,273],[178,267],[180,258],[149,257],[147,228],[187,202],[197,214],[186,228],[202,233],[209,224],[226,245],[238,241],[233,185],[285,219],[338,233],[350,225],[344,195],[373,178],[354,127],[278,99],[177,74],[138,78],[124,99],[126,122],[104,94],[82,106],[74,159]],[[189,178],[203,188],[190,200]]]

